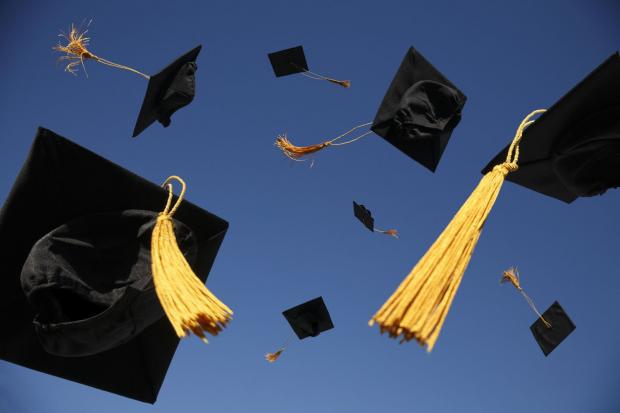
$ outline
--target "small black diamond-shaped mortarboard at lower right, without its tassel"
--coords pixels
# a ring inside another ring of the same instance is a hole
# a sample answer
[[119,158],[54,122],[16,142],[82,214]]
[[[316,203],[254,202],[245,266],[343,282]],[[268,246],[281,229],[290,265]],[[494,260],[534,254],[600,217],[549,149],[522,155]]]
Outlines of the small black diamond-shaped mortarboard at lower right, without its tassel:
[[551,324],[551,327],[547,327],[539,317],[530,330],[546,357],[573,332],[575,324],[557,301],[543,313],[542,318]]

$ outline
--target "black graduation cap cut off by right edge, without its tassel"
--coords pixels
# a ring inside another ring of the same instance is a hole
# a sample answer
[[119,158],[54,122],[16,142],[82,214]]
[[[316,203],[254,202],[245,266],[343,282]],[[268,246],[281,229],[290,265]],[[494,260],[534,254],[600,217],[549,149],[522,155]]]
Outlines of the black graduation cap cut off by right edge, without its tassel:
[[[482,170],[503,162],[508,147]],[[506,179],[570,203],[620,186],[620,55],[612,54],[521,138]]]

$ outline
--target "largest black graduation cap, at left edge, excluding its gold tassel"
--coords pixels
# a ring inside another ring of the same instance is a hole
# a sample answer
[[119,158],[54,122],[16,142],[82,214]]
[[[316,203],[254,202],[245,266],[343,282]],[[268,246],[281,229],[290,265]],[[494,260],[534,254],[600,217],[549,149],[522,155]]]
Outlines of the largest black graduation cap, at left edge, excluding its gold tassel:
[[[145,274],[150,256],[143,256],[148,252],[143,243],[167,195],[160,186],[39,128],[0,210],[0,359],[154,403],[179,342],[154,304],[152,279]],[[188,201],[175,220],[180,248],[205,281],[228,223]],[[138,241],[122,244],[117,230]],[[133,253],[120,252],[124,246]],[[88,255],[76,255],[75,248]],[[58,257],[67,265],[56,262]],[[131,267],[134,262],[137,268]],[[105,274],[111,280],[101,278],[100,266],[112,270]],[[49,285],[37,278],[46,274]],[[36,297],[43,292],[54,299]],[[67,322],[50,323],[54,317]],[[99,342],[89,331],[105,335]]]

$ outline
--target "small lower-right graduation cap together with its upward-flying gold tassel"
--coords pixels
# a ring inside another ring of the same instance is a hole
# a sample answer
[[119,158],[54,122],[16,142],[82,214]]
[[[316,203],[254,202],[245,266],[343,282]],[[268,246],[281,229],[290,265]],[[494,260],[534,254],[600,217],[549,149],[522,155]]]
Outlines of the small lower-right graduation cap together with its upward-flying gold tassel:
[[543,314],[538,312],[534,301],[525,293],[519,280],[519,272],[515,267],[504,271],[500,283],[509,282],[521,293],[530,308],[538,315],[538,319],[532,324],[530,330],[534,334],[536,342],[545,354],[549,355],[570,333],[575,329],[575,324],[568,317],[564,309],[557,301]]

